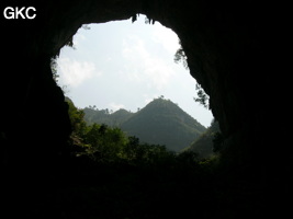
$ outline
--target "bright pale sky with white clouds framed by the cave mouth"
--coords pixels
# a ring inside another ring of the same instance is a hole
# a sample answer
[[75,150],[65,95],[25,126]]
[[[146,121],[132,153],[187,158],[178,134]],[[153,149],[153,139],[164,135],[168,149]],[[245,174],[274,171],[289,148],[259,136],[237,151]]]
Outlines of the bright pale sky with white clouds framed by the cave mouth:
[[[89,28],[89,30],[88,30]],[[182,64],[173,61],[179,46],[176,33],[145,16],[90,24],[74,36],[57,59],[58,84],[77,107],[95,105],[113,112],[137,112],[156,97],[177,103],[205,127],[211,111],[195,103],[196,81]]]

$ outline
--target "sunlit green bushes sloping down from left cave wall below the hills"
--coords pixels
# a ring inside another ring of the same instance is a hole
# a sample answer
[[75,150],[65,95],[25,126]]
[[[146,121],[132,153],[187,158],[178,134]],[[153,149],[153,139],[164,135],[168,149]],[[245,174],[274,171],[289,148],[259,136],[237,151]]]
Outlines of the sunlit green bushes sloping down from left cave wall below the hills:
[[70,145],[74,155],[88,157],[97,162],[105,163],[154,163],[161,158],[171,158],[173,153],[165,146],[140,143],[136,137],[127,137],[117,127],[93,123],[87,125],[84,113],[67,99],[69,117],[72,126]]

